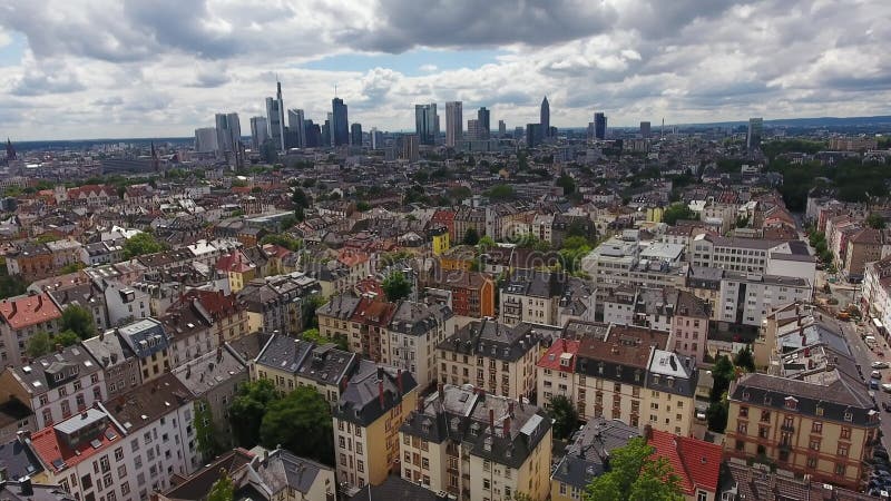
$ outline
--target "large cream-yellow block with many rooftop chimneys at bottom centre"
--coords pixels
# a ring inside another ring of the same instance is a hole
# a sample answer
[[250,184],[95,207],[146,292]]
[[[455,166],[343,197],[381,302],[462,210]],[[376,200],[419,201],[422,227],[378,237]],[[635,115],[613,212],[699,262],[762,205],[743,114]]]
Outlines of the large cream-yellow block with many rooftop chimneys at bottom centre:
[[399,434],[407,481],[468,501],[548,498],[551,424],[536,405],[440,385]]

